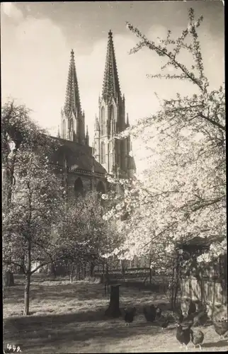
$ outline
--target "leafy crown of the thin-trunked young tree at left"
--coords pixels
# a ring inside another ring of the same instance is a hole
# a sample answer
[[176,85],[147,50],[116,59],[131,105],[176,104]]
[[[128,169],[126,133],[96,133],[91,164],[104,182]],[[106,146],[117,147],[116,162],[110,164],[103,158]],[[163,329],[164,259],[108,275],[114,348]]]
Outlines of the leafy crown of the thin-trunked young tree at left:
[[17,153],[14,173],[18,178],[11,205],[3,215],[4,262],[32,274],[31,262],[49,263],[54,255],[50,232],[58,221],[62,186],[50,171],[47,156],[42,151],[36,154],[26,144]]

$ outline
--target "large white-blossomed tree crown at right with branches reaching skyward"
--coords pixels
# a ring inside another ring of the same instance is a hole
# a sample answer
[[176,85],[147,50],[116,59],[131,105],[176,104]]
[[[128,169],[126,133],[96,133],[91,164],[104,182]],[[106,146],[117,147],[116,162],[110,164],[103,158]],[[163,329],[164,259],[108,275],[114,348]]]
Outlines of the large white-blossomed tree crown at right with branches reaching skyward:
[[[136,125],[118,136],[140,137],[148,156],[141,176],[133,181],[114,181],[125,187],[115,207],[106,219],[120,217],[126,211],[130,217],[122,222],[125,232],[125,256],[152,254],[160,263],[168,262],[178,243],[195,236],[216,241],[204,259],[226,252],[226,179],[225,179],[225,103],[224,86],[210,91],[203,68],[198,40],[198,28],[203,21],[195,20],[189,11],[189,23],[181,35],[159,44],[148,40],[137,28],[127,28],[139,38],[130,51],[136,53],[147,47],[166,63],[164,74],[149,75],[153,79],[181,79],[195,86],[193,96],[181,96],[161,102],[161,109],[151,117],[140,119]],[[188,68],[180,61],[180,53],[192,56]],[[172,69],[174,74],[170,74]],[[110,198],[113,198],[111,196]],[[199,258],[200,261],[201,258]],[[154,259],[154,262],[156,260]],[[169,265],[169,262],[167,266]]]

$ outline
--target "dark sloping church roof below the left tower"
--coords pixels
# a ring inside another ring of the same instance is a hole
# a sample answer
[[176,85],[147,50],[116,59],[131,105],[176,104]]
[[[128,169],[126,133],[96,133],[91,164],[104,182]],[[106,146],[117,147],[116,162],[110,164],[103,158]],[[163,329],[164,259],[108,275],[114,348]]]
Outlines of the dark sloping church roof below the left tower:
[[96,174],[106,175],[106,169],[93,157],[91,147],[57,137],[51,138],[59,143],[57,151],[52,152],[52,164],[64,166],[66,158],[69,171],[91,174],[94,170]]

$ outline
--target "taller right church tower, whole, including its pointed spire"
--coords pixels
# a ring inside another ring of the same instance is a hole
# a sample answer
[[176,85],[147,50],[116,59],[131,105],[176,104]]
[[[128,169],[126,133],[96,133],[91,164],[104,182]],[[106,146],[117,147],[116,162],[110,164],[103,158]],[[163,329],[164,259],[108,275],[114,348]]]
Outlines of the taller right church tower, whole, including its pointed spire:
[[94,126],[94,156],[111,175],[120,178],[130,177],[135,172],[129,156],[130,137],[112,139],[129,126],[129,120],[127,115],[125,122],[125,96],[120,91],[111,30],[108,33],[103,90],[98,99],[98,106],[99,117],[96,117]]

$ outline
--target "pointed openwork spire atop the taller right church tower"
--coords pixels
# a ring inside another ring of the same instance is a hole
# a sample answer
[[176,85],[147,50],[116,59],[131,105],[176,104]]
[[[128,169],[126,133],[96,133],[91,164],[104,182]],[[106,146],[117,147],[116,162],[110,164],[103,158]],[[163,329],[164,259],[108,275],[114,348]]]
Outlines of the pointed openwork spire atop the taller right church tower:
[[108,32],[108,47],[106,54],[106,68],[103,76],[102,96],[105,101],[108,101],[112,97],[114,99],[119,99],[121,96],[118,70],[115,61],[113,33],[111,30]]

